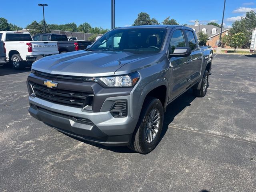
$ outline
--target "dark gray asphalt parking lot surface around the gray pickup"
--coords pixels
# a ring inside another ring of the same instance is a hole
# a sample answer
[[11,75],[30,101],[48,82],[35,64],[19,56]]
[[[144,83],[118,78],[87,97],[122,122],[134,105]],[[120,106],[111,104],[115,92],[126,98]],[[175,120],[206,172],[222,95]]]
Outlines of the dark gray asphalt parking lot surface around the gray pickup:
[[0,191],[255,191],[256,57],[215,55],[206,96],[172,102],[147,155],[32,118],[29,73],[0,67]]

